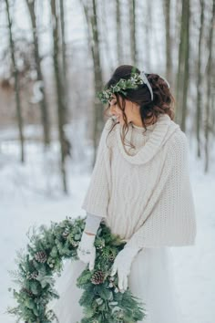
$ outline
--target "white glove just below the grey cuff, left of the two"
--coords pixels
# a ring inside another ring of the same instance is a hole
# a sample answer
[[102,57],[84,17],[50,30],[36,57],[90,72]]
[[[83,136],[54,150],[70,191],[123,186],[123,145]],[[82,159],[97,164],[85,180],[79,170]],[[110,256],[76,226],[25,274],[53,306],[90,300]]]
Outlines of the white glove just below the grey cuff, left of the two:
[[86,234],[84,231],[77,247],[78,258],[84,263],[89,264],[90,271],[94,269],[96,259],[95,238],[96,234]]

